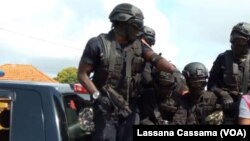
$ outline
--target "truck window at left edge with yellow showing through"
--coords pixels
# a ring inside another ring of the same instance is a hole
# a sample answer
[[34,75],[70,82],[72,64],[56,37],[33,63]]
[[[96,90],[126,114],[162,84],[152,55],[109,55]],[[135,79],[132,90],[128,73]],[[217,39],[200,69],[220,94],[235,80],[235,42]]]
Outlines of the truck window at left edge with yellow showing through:
[[9,141],[10,134],[10,110],[13,92],[0,90],[0,139]]

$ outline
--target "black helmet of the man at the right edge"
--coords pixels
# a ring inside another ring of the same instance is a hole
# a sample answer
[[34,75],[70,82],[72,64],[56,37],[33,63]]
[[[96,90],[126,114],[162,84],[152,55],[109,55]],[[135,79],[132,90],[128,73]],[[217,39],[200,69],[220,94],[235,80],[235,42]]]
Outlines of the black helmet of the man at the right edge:
[[250,37],[250,24],[245,22],[240,22],[233,27],[230,36],[230,42],[233,43],[237,38],[243,38],[248,40],[249,37]]

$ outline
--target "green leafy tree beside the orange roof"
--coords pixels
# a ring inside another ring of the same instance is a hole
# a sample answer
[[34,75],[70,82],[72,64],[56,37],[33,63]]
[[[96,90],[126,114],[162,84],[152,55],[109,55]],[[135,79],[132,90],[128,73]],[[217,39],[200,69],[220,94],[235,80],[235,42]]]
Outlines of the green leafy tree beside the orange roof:
[[78,83],[76,75],[77,75],[77,68],[67,67],[57,74],[55,80],[57,80],[60,83],[68,83],[68,84]]

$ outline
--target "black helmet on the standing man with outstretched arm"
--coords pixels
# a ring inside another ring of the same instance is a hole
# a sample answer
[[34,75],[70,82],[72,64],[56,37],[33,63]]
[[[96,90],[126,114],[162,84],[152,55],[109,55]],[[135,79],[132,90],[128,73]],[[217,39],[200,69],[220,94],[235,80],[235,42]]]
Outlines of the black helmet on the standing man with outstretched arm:
[[142,11],[129,3],[122,3],[117,5],[109,15],[109,19],[112,23],[118,22],[130,22],[138,28],[143,27],[143,13]]

